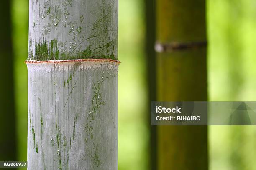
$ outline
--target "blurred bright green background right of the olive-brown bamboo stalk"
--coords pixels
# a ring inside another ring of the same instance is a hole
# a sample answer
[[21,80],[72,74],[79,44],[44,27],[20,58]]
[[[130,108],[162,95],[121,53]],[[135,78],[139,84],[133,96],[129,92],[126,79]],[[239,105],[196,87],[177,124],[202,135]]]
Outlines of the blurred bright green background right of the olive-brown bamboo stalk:
[[[256,101],[256,1],[208,0],[212,101]],[[210,170],[255,170],[255,126],[210,126]]]

